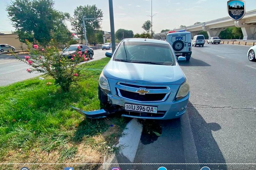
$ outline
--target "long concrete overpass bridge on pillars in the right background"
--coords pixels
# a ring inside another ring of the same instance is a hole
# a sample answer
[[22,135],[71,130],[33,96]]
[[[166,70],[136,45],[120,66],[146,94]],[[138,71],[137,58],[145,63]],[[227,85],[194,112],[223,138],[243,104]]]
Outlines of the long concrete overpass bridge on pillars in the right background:
[[[221,31],[228,27],[239,27],[242,29],[244,40],[256,39],[256,9],[245,13],[244,17],[239,21],[234,21],[230,17],[219,18],[204,23],[187,26],[185,28],[175,30],[186,30],[191,32],[192,37],[200,31],[206,31],[209,37],[219,36]],[[155,34],[155,39],[166,39],[167,32]]]

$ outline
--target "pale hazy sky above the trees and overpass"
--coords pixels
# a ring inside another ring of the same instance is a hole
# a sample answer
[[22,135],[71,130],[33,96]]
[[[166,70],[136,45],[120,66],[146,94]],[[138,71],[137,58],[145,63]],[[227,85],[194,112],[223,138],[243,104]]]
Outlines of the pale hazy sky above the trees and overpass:
[[[5,10],[11,0],[0,0],[0,32],[14,31]],[[55,9],[73,12],[77,6],[95,4],[103,12],[102,30],[110,32],[108,0],[55,0]],[[228,17],[227,0],[152,0],[153,31],[160,33],[163,29],[174,29],[180,25],[190,26],[196,22],[206,22]],[[142,24],[151,20],[151,0],[113,0],[115,31],[133,30],[142,33]],[[256,0],[245,0],[246,11],[256,9]],[[66,23],[71,30],[72,26]],[[72,31],[72,30],[71,30]]]

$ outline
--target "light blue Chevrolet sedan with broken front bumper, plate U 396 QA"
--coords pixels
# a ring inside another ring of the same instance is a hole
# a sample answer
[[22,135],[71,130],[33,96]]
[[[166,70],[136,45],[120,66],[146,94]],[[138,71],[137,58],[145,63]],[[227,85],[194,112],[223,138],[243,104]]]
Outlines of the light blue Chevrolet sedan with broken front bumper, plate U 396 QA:
[[[175,119],[185,113],[189,84],[170,44],[155,39],[123,39],[99,77],[99,101],[105,110],[85,112],[88,118],[119,112],[125,117]],[[177,62],[178,61],[178,62]]]

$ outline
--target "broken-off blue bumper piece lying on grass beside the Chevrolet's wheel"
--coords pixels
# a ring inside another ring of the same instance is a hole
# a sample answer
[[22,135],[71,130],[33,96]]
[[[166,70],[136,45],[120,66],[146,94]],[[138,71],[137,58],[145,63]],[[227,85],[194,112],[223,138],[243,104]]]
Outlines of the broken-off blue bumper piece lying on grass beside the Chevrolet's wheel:
[[70,106],[70,107],[89,119],[104,118],[104,117],[107,117],[108,114],[110,114],[108,111],[105,111],[104,109],[95,110],[95,111],[83,111],[83,110],[73,107],[73,106]]

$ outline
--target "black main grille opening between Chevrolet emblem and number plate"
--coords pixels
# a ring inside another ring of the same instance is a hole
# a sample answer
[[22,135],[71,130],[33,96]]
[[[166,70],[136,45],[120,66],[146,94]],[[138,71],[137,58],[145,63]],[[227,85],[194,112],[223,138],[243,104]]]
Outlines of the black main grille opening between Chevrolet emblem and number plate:
[[136,100],[136,101],[162,101],[166,94],[159,93],[159,94],[145,94],[140,95],[139,93],[129,92],[126,90],[119,89],[121,97]]

